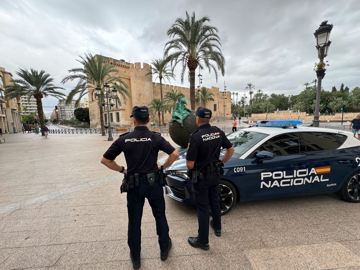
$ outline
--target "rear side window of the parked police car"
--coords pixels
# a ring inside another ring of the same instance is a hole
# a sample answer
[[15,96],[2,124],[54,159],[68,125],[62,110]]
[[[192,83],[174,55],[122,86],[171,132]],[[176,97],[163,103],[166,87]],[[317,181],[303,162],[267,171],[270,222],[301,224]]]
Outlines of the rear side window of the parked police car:
[[334,150],[339,146],[332,133],[302,132],[301,134],[306,145],[306,152]]

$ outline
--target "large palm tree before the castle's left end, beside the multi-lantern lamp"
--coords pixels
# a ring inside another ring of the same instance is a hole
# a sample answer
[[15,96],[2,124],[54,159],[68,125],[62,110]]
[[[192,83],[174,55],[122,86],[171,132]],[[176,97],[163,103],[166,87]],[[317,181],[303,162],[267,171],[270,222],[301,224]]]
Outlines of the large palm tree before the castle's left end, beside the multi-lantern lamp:
[[[77,85],[72,89],[67,96],[66,104],[70,104],[71,100],[78,95],[78,99],[75,101],[75,106],[78,105],[81,98],[84,95],[91,96],[91,100],[96,98],[95,88],[101,87],[101,95],[98,96],[98,105],[100,111],[100,125],[101,125],[101,134],[105,136],[105,126],[104,126],[104,115],[103,115],[103,105],[105,102],[104,89],[102,85],[107,83],[112,88],[115,88],[117,93],[125,100],[126,97],[131,97],[127,84],[117,75],[112,75],[113,73],[118,73],[118,69],[110,63],[103,63],[102,55],[96,55],[93,57],[90,53],[85,53],[85,57],[80,56],[80,59],[77,60],[82,67],[73,68],[68,70],[71,73],[69,76],[63,78],[61,81],[62,84],[66,82],[78,80]],[[116,96],[118,104],[121,106],[121,100],[119,96]],[[109,117],[109,116],[108,116]]]

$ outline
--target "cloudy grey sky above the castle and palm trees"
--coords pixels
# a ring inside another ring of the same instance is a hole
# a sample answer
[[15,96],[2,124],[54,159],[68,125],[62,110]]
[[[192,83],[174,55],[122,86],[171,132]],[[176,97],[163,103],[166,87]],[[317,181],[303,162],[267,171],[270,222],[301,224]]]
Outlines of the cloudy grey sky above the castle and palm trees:
[[[162,56],[166,31],[185,10],[210,16],[222,40],[225,76],[216,82],[205,71],[203,86],[223,89],[225,81],[228,91],[243,95],[251,82],[269,95],[300,93],[316,78],[313,33],[325,20],[334,28],[322,86],[360,86],[359,0],[3,0],[0,66],[14,76],[18,68],[45,69],[60,85],[84,52],[149,63]],[[171,84],[180,86],[179,70],[176,75]],[[72,86],[63,87],[68,92]],[[55,106],[57,99],[43,104]]]

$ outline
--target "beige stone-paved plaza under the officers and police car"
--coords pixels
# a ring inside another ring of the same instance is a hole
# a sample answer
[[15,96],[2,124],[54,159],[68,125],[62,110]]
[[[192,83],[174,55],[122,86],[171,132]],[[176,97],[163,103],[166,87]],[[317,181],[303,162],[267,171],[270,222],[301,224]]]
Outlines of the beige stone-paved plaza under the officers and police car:
[[[111,145],[107,137],[18,133],[5,139],[0,270],[132,269],[123,177],[100,164]],[[122,154],[117,162],[125,165]],[[210,233],[210,250],[202,251],[187,242],[197,235],[196,208],[165,201],[169,257],[159,258],[145,203],[140,269],[360,269],[360,204],[334,195],[238,203],[222,217],[222,236]]]

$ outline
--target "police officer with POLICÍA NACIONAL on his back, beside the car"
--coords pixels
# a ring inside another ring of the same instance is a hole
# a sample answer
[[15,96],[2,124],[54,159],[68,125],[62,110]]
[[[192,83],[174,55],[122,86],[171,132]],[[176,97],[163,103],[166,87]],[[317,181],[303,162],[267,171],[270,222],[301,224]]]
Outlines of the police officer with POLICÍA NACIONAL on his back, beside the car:
[[[196,130],[191,136],[186,153],[186,167],[189,174],[197,172],[197,183],[192,181],[194,202],[198,209],[198,236],[189,237],[191,246],[208,250],[209,246],[209,204],[212,213],[210,222],[215,235],[221,236],[221,209],[219,203],[221,167],[234,153],[234,147],[219,128],[210,125],[212,112],[199,107],[196,111]],[[220,148],[225,148],[225,154],[220,157]],[[219,170],[220,168],[220,170]]]

